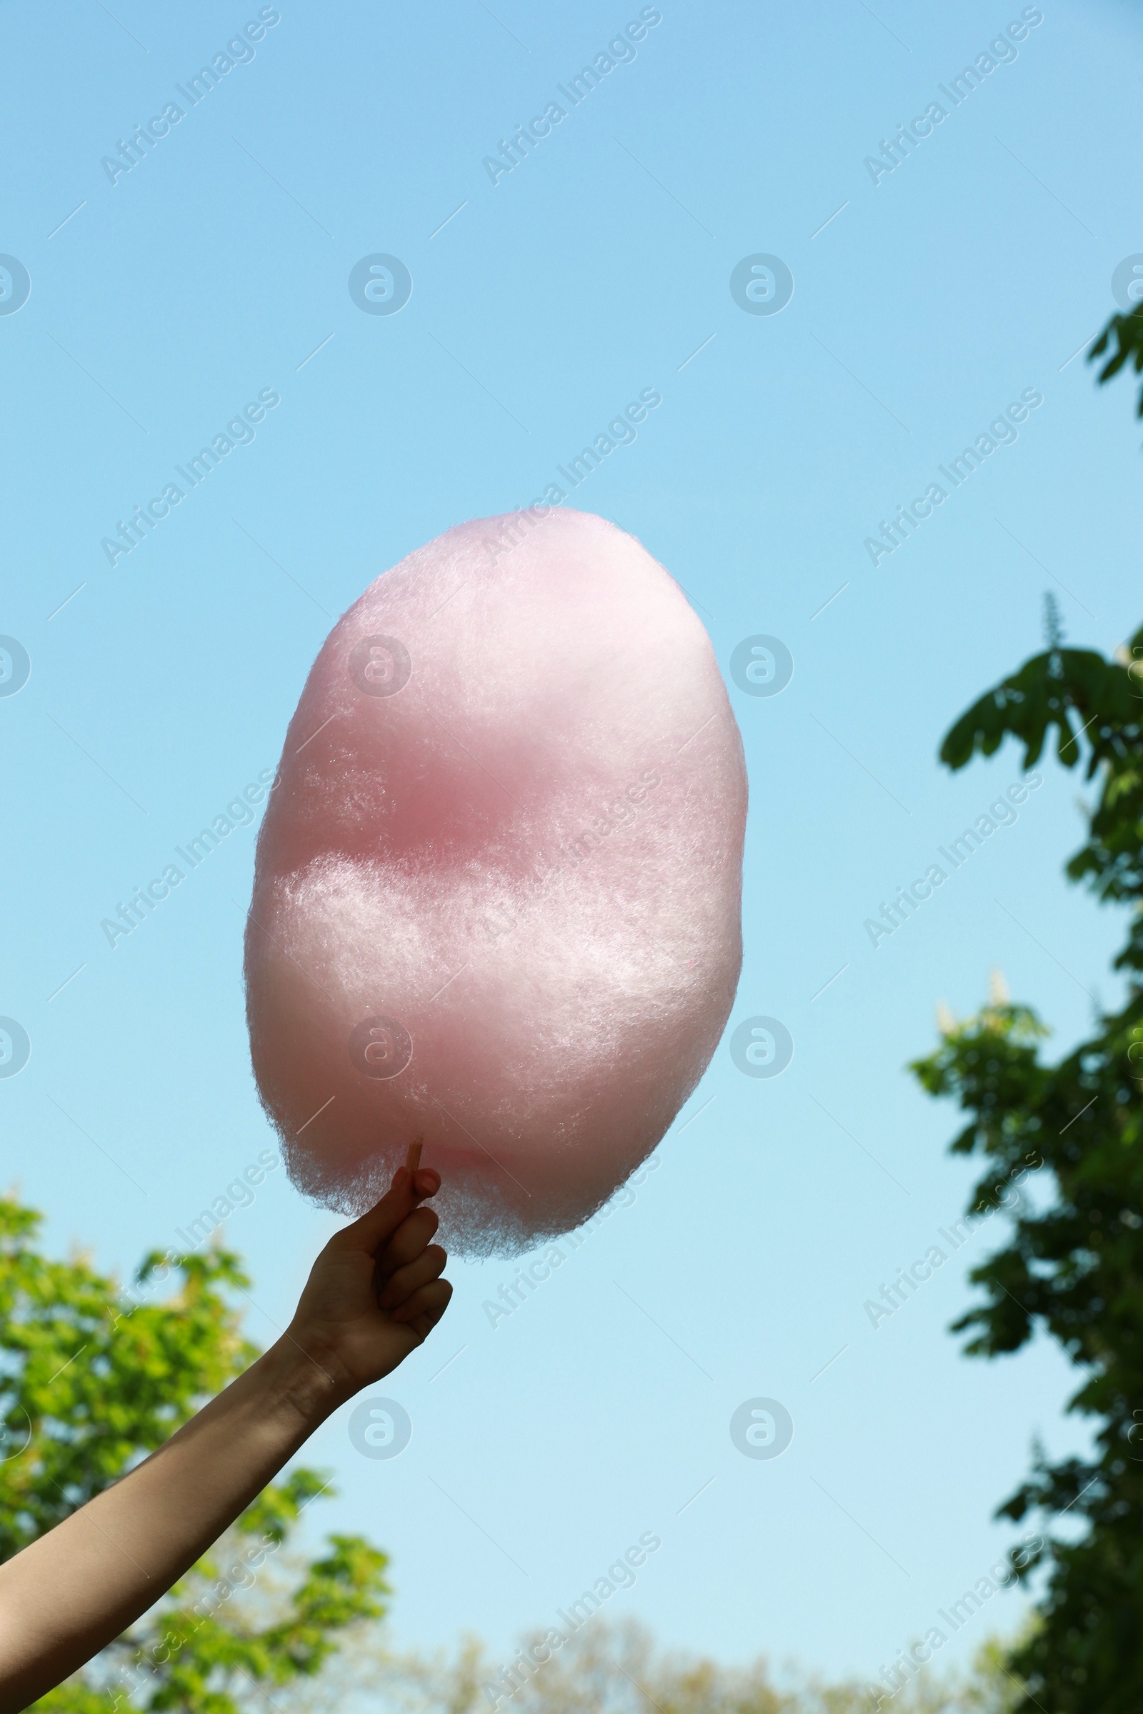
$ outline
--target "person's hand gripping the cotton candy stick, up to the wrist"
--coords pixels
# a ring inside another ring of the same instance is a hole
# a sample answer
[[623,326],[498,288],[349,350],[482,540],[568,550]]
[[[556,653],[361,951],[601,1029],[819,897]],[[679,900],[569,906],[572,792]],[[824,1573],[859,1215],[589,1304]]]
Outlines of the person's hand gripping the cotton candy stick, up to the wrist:
[[425,1196],[440,1190],[432,1167],[401,1167],[380,1202],[336,1232],[310,1270],[288,1337],[332,1380],[338,1393],[396,1369],[444,1315],[452,1287]]

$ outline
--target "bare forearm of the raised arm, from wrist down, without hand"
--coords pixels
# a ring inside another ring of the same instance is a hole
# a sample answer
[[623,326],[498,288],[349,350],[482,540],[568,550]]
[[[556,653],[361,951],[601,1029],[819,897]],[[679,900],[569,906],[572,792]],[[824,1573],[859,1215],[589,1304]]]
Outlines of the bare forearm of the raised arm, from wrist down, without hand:
[[0,1565],[0,1714],[146,1613],[350,1397],[336,1357],[283,1335],[158,1452]]

